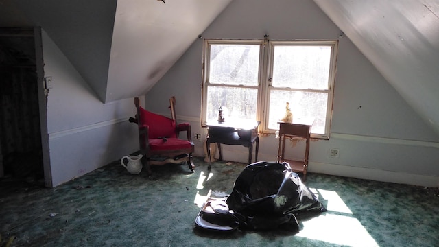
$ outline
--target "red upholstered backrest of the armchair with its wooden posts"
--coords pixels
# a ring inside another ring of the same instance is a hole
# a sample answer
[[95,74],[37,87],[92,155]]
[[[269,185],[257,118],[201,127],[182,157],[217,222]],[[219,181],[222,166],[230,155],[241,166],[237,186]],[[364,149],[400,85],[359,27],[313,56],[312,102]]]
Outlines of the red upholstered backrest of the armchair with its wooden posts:
[[[172,101],[172,97],[171,97]],[[175,102],[175,99],[174,99]],[[176,134],[176,121],[174,119],[170,119],[169,117],[165,117],[163,115],[158,115],[156,113],[152,113],[149,110],[145,110],[142,106],[139,105],[139,99],[134,99],[134,104],[137,108],[137,124],[139,126],[147,125],[149,127],[148,137],[150,139],[155,138],[175,138]],[[172,109],[174,108],[171,103],[171,114]],[[175,112],[173,113],[174,117]]]

